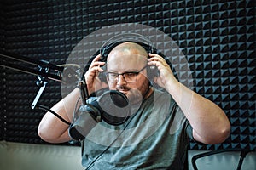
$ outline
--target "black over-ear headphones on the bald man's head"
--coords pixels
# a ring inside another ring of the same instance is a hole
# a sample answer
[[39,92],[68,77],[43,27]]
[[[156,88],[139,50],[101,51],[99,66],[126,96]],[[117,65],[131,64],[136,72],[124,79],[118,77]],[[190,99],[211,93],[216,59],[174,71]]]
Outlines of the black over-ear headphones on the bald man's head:
[[[107,62],[108,54],[113,50],[113,48],[124,42],[137,43],[138,45],[142,46],[147,53],[157,52],[157,50],[153,47],[152,42],[148,38],[143,37],[143,35],[137,33],[125,33],[110,38],[102,45],[102,48],[100,49],[102,56],[101,61]],[[104,65],[102,69],[106,71],[106,65]],[[147,67],[147,74],[148,80],[151,82],[154,80],[154,77],[159,76],[159,71],[155,65],[152,65]],[[102,77],[101,75],[99,75],[99,77],[101,80],[103,79],[102,81],[106,82],[106,78]]]

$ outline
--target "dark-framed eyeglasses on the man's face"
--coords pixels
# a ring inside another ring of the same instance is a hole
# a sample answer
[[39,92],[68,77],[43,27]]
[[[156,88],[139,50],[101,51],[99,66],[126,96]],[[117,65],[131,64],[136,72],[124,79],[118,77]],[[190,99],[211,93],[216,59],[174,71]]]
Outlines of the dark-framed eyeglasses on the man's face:
[[109,82],[118,82],[119,81],[119,75],[123,76],[126,82],[136,82],[137,81],[137,75],[143,71],[145,68],[147,68],[148,65],[144,66],[139,71],[127,71],[123,73],[117,73],[117,72],[106,72],[106,76],[108,78]]

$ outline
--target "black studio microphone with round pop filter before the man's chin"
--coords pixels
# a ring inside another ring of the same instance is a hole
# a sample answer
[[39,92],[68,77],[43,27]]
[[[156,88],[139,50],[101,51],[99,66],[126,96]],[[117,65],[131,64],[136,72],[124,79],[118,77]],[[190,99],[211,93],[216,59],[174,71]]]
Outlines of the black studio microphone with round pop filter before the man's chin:
[[108,90],[99,99],[79,107],[68,133],[72,139],[82,140],[97,122],[103,120],[108,124],[118,126],[126,122],[130,115],[131,105],[125,94],[117,90]]

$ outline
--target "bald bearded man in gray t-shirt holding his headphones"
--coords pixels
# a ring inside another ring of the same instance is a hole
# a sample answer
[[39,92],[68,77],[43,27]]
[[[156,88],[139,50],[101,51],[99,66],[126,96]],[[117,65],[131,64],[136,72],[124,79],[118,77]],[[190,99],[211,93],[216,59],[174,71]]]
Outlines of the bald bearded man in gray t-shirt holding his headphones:
[[[118,90],[133,110],[124,124],[99,122],[92,127],[82,148],[82,164],[87,169],[186,169],[189,138],[219,144],[229,136],[230,122],[224,111],[178,82],[160,55],[148,54],[135,42],[123,42],[110,51],[107,63],[100,57],[93,59],[85,74],[89,94],[106,87]],[[103,65],[107,65],[108,85],[97,77]],[[153,81],[166,92],[150,86],[146,69],[150,65],[159,71]],[[78,98],[75,89],[52,110],[71,122]],[[38,134],[52,143],[71,139],[67,124],[49,112]]]

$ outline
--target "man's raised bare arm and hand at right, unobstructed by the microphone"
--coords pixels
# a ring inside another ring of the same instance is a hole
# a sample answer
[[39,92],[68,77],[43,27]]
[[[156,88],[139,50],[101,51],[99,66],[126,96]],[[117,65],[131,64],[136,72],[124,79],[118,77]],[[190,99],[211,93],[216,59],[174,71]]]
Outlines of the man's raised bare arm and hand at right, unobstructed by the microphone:
[[193,127],[193,137],[204,144],[219,144],[230,135],[230,121],[224,111],[212,101],[196,94],[178,82],[165,59],[149,54],[148,65],[156,65],[160,77],[155,82],[172,95]]

